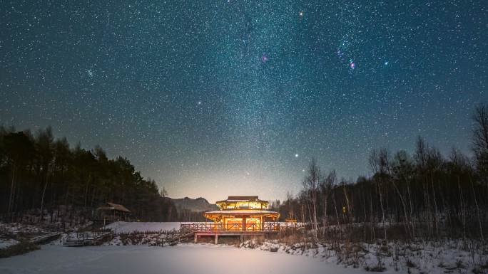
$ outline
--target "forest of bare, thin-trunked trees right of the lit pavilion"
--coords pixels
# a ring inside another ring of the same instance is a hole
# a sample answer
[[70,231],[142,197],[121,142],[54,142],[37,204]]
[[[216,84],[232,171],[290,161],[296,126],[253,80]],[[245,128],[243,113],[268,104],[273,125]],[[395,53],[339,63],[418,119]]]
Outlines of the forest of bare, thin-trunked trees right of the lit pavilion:
[[370,152],[373,174],[356,181],[324,173],[312,159],[297,196],[272,208],[317,238],[480,238],[488,232],[488,107],[474,111],[472,157],[417,138],[415,152]]

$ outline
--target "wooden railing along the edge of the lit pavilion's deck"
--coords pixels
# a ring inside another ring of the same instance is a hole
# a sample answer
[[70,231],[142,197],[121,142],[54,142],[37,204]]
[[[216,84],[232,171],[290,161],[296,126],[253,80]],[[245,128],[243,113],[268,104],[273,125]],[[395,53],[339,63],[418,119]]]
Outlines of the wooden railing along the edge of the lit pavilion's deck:
[[182,223],[180,231],[182,233],[190,232],[278,232],[280,231],[280,223],[265,222],[263,224],[247,223],[243,229],[242,223],[229,223],[224,226],[222,223]]

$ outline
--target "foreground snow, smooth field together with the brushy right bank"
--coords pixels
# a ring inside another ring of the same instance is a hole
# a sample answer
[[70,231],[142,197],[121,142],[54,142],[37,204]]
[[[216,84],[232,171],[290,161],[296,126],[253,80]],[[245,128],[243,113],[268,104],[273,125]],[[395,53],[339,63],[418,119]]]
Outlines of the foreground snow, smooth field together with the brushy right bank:
[[[0,273],[367,273],[368,268],[375,270],[380,257],[385,266],[383,273],[487,273],[486,264],[478,265],[479,272],[474,272],[469,253],[449,248],[422,246],[422,250],[414,252],[419,253],[417,256],[409,253],[394,260],[391,255],[380,254],[383,251],[378,246],[368,246],[367,250],[358,252],[362,258],[355,265],[354,254],[341,257],[326,246],[303,249],[300,245],[270,242],[253,246],[251,242],[241,244],[240,248],[200,243],[172,247],[46,245],[39,251],[0,259]],[[474,256],[478,255],[481,254]],[[233,265],[233,268],[223,265]]]

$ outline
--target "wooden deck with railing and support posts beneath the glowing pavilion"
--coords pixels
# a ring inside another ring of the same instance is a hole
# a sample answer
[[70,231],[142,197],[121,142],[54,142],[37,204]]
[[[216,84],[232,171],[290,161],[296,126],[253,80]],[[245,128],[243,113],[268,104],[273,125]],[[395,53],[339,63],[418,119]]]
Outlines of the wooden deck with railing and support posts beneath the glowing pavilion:
[[280,223],[268,222],[263,225],[250,223],[245,226],[240,223],[234,223],[229,226],[223,226],[220,223],[182,223],[180,233],[185,235],[193,234],[195,243],[200,236],[213,236],[215,244],[218,243],[218,236],[240,236],[243,241],[244,236],[265,236],[269,233],[280,232]]

